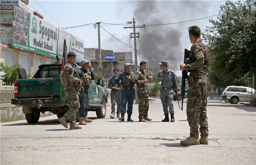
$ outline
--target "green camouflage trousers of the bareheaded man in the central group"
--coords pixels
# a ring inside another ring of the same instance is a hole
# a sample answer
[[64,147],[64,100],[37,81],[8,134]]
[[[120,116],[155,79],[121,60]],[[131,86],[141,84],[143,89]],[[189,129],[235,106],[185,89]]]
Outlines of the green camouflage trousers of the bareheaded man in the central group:
[[137,92],[139,99],[139,118],[148,117],[149,99],[148,92]]

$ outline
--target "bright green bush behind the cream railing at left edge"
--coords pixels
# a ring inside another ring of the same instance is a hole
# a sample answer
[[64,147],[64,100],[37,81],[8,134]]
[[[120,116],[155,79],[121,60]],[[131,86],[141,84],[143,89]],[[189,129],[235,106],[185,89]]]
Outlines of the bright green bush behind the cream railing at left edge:
[[15,80],[18,79],[18,67],[20,64],[13,64],[12,66],[4,65],[3,62],[0,62],[0,71],[4,72],[4,75],[1,75],[1,81],[5,85],[14,84]]

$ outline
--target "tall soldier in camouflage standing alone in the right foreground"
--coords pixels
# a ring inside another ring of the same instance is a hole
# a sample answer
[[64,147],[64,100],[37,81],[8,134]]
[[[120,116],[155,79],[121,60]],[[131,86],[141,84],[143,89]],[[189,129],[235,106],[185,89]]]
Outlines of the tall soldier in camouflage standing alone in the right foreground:
[[[201,30],[198,26],[188,28],[190,42],[190,57],[186,64],[180,64],[180,70],[189,71],[189,91],[187,101],[187,117],[190,126],[190,136],[181,140],[181,145],[208,144],[208,122],[206,116],[206,89],[208,85],[207,73],[209,71],[209,51],[202,42]],[[198,127],[201,133],[199,140]]]

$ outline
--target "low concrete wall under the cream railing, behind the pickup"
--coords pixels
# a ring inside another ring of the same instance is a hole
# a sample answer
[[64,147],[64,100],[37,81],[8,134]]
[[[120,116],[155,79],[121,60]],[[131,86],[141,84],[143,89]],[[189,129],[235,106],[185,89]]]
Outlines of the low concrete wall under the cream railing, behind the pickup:
[[[22,112],[22,106],[15,107],[3,107],[0,109],[1,120],[15,120],[15,119],[26,119],[25,114]],[[40,117],[55,115],[52,112],[44,112],[40,114]],[[57,118],[57,116],[56,116]]]

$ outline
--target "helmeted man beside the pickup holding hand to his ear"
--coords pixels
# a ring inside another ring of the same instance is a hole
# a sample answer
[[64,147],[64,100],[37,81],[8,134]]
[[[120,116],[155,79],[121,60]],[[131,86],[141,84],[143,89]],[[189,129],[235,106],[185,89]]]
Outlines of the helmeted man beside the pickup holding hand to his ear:
[[[79,70],[79,76],[82,80],[82,86],[84,87],[84,95],[86,97],[86,102],[84,97],[80,94],[80,108],[79,108],[79,124],[86,125],[86,123],[91,123],[92,119],[87,118],[88,107],[89,107],[89,96],[88,96],[88,89],[89,85],[92,83],[92,80],[95,80],[95,76],[93,74],[93,68],[89,65],[90,61],[82,60],[80,62],[80,66],[82,67]],[[88,71],[89,70],[89,71]],[[86,107],[87,104],[87,107]]]

